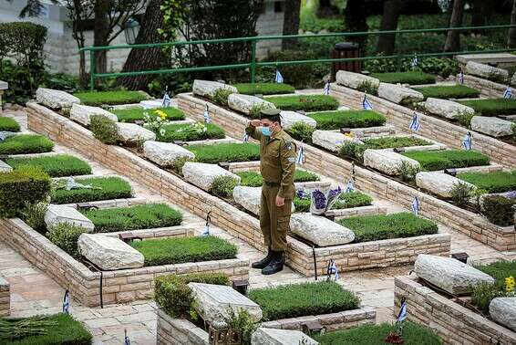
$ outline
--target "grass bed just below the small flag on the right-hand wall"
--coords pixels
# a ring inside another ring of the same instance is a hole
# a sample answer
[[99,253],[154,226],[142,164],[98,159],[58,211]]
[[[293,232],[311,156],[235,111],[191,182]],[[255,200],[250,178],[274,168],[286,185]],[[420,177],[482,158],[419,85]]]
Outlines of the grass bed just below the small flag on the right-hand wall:
[[421,169],[426,171],[436,171],[447,168],[466,168],[469,166],[489,165],[490,163],[489,156],[476,151],[414,151],[403,152],[402,154],[418,161],[421,164]]

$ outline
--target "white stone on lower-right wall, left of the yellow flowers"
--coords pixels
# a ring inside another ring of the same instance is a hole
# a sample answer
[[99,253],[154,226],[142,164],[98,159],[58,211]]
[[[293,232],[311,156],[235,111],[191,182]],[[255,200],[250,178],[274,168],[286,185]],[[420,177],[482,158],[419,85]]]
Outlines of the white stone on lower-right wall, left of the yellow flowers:
[[420,254],[414,271],[418,277],[453,295],[470,293],[480,283],[494,283],[489,275],[451,257]]

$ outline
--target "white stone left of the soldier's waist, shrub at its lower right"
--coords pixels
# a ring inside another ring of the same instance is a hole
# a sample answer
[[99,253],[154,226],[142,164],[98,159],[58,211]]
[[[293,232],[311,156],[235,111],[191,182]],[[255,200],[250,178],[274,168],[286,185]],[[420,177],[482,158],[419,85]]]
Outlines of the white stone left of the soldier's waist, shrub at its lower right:
[[186,162],[182,167],[182,174],[186,181],[208,192],[212,190],[212,183],[219,176],[229,176],[240,183],[240,176],[215,164]]

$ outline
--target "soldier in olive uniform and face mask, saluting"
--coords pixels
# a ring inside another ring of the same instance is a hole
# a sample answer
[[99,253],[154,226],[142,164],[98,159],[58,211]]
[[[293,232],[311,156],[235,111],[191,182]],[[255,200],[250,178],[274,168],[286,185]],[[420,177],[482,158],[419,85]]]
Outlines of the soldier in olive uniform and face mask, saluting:
[[260,141],[260,173],[263,177],[260,228],[268,252],[252,267],[261,268],[263,275],[272,275],[284,267],[286,234],[290,230],[295,194],[296,148],[292,138],[282,128],[280,110],[262,110],[260,119],[252,120],[245,131]]

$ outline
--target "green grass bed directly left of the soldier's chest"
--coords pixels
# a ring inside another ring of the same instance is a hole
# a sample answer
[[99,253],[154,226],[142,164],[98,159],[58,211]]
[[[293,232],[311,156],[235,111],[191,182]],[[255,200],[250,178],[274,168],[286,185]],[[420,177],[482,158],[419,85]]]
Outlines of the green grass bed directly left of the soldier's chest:
[[250,162],[260,160],[260,146],[250,142],[217,143],[213,145],[189,145],[186,149],[195,153],[195,162]]

